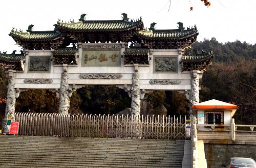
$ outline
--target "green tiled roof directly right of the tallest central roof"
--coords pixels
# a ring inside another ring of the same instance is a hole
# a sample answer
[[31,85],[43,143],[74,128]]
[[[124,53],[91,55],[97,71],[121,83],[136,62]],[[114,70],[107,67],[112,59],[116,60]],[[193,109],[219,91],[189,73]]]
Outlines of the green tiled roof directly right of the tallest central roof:
[[188,30],[174,29],[174,30],[155,30],[153,31],[139,31],[139,36],[150,39],[181,39],[194,35],[198,35],[197,28],[194,27]]

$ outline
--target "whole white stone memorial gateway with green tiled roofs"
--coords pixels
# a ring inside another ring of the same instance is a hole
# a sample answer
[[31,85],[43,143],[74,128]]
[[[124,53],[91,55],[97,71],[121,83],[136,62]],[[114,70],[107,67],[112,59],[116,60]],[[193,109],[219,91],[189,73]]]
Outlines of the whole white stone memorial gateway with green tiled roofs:
[[[20,54],[1,53],[8,70],[6,119],[15,100],[27,89],[48,89],[59,98],[59,114],[68,114],[72,93],[86,85],[113,85],[131,97],[131,115],[140,116],[140,101],[153,90],[183,92],[199,103],[199,79],[211,63],[212,51],[185,53],[198,36],[197,27],[144,29],[142,19],[57,21],[53,31],[9,34],[23,46]],[[125,17],[126,16],[126,17]],[[73,47],[68,47],[73,44]],[[131,44],[129,47],[128,45]]]

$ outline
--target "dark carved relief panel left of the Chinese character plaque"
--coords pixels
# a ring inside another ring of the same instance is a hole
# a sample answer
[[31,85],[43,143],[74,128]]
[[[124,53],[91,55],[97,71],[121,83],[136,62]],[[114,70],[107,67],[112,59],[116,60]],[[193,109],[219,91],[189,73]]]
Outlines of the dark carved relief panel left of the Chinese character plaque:
[[29,57],[28,72],[50,72],[51,57]]

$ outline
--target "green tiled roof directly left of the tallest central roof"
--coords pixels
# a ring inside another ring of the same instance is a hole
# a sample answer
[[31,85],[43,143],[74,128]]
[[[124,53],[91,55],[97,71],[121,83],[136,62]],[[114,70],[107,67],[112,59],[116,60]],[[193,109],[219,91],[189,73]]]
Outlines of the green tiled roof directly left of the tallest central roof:
[[59,37],[61,35],[58,31],[32,31],[20,32],[12,29],[9,36],[13,38],[23,39],[23,40],[51,40]]

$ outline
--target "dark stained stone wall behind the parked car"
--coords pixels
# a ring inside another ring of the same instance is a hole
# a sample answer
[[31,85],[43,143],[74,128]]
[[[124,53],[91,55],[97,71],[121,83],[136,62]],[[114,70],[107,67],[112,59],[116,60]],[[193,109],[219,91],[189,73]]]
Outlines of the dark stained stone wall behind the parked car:
[[208,168],[220,168],[230,157],[256,159],[256,142],[204,141],[204,152]]

